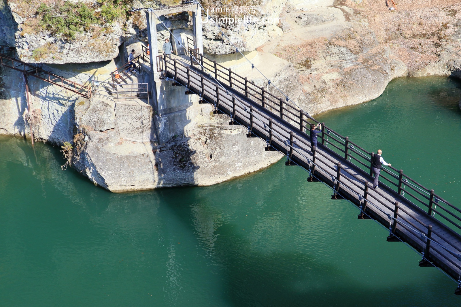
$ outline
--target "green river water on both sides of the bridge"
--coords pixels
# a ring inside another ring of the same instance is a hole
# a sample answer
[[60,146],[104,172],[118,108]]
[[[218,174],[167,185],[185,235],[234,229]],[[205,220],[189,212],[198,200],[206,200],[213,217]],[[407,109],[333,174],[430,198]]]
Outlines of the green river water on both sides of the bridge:
[[[317,118],[458,204],[460,99],[453,79],[401,78]],[[60,164],[0,137],[0,306],[461,306],[453,281],[284,161],[126,194]]]

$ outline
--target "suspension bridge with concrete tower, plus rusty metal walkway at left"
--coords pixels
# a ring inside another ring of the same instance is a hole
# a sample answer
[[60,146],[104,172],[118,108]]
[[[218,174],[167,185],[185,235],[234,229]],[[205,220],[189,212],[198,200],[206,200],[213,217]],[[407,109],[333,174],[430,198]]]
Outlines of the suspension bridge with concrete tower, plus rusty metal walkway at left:
[[[424,187],[402,170],[391,166],[383,167],[380,189],[374,189],[370,184],[373,180],[371,161],[374,153],[324,123],[321,123],[319,146],[313,148],[307,131],[310,124],[319,124],[318,121],[281,91],[277,94],[277,91],[260,87],[248,80],[248,77],[240,76],[203,55],[202,8],[197,7],[198,4],[194,2],[193,5],[159,10],[158,14],[155,10],[148,10],[148,22],[154,19],[153,14],[159,18],[159,15],[165,13],[195,10],[192,47],[183,46],[188,57],[170,58],[157,55],[157,47],[150,52],[142,48],[142,55],[136,58],[137,65],[140,68],[148,67],[151,83],[160,79],[168,81],[171,86],[183,86],[184,94],[196,94],[200,97],[199,103],[212,104],[215,113],[227,114],[230,124],[246,127],[248,137],[263,139],[266,150],[283,153],[286,156],[285,165],[299,165],[306,170],[307,181],[320,181],[329,186],[333,191],[332,199],[343,199],[355,205],[360,210],[359,219],[373,219],[381,224],[389,231],[387,241],[403,242],[420,253],[419,266],[439,269],[458,283],[455,294],[461,295],[461,210],[435,194],[433,189]],[[155,23],[151,22],[148,29],[149,42],[155,41]],[[224,33],[223,37],[226,37]],[[150,46],[156,44],[151,43]],[[125,65],[114,71],[112,83],[101,85],[92,82],[91,86],[85,86],[3,53],[0,54],[0,60],[2,66],[21,71],[24,76],[37,77],[84,97],[91,97],[97,91],[97,86],[116,96],[120,95],[117,89],[124,87],[129,67]],[[141,66],[139,61],[144,65]],[[268,84],[271,85],[270,80]],[[150,86],[155,107],[156,89],[154,85]],[[149,97],[147,86],[142,92]]]

